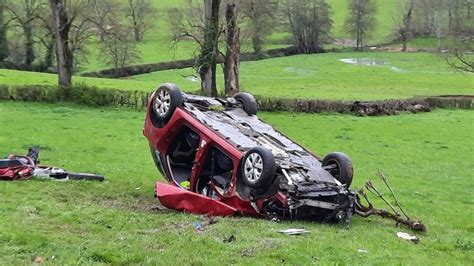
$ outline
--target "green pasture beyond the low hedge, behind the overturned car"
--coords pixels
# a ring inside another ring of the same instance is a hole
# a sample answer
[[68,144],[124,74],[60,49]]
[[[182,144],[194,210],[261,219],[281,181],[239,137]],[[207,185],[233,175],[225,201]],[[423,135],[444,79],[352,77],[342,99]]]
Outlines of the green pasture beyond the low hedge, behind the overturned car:
[[[362,65],[344,63],[352,60]],[[369,65],[364,65],[369,64]],[[271,97],[374,100],[443,94],[473,94],[472,74],[449,68],[429,53],[347,52],[298,55],[241,64],[241,89]],[[220,69],[218,72],[221,72]],[[74,77],[104,88],[152,91],[172,82],[182,90],[199,90],[200,82],[186,78],[193,69],[159,71],[125,79]],[[222,89],[223,78],[218,77]],[[57,83],[57,76],[0,70],[0,84]]]

